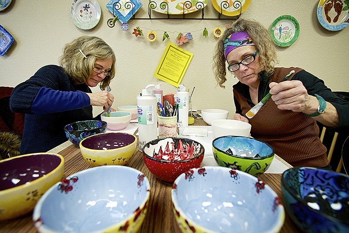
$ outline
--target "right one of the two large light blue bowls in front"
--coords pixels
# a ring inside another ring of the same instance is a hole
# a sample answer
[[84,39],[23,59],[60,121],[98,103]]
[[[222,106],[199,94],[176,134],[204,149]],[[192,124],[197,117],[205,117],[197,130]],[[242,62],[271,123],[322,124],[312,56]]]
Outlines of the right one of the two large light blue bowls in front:
[[182,173],[172,186],[172,202],[184,233],[275,233],[285,221],[284,207],[268,185],[228,167]]

